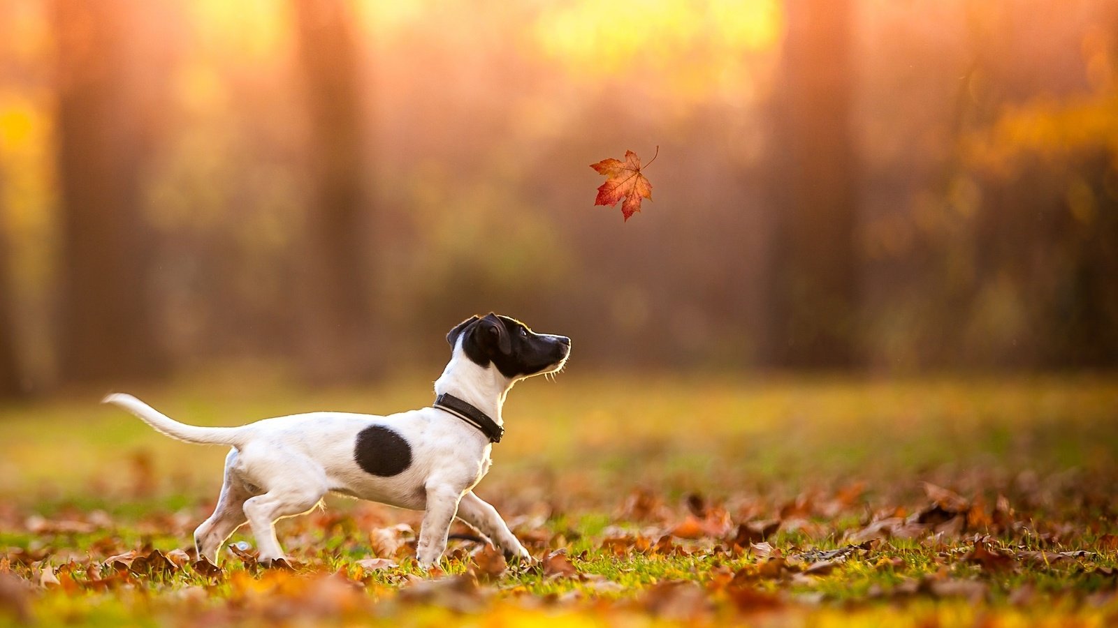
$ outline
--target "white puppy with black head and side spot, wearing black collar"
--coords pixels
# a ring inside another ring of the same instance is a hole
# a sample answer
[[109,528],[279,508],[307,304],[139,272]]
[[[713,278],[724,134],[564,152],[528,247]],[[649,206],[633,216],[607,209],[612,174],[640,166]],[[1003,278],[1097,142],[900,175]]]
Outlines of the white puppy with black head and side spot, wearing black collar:
[[277,520],[305,514],[326,493],[424,511],[416,546],[419,567],[434,567],[457,516],[510,559],[531,561],[496,510],[474,494],[504,432],[501,408],[518,381],[558,373],[570,339],[540,334],[490,313],[446,335],[451,361],[435,381],[429,408],[389,416],[311,412],[240,427],[180,424],[130,394],[119,406],[171,438],[230,446],[217,507],[195,531],[199,559],[217,563],[218,549],[246,522],[271,565],[286,560]]

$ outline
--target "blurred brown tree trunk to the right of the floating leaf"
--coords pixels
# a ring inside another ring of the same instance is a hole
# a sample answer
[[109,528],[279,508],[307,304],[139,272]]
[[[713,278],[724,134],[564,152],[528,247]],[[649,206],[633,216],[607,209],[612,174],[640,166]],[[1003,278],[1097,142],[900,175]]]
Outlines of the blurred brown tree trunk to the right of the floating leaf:
[[785,368],[854,362],[858,209],[850,0],[787,0],[773,178],[777,226],[769,359]]

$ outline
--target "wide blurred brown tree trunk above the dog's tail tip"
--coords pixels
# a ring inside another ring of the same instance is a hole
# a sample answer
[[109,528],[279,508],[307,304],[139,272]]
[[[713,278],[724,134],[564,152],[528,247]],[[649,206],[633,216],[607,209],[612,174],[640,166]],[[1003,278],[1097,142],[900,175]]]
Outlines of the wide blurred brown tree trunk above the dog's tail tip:
[[[154,107],[151,57],[133,46],[143,0],[54,2],[63,222],[60,377],[98,381],[165,368],[152,329],[150,234],[140,172]],[[151,103],[148,103],[150,105]]]

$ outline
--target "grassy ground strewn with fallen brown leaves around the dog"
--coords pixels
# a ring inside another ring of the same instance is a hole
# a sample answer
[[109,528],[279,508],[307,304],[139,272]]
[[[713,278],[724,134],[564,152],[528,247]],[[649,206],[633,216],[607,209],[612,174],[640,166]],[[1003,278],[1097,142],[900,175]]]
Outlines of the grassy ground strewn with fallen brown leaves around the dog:
[[[430,402],[430,377],[306,391],[233,372],[135,392],[180,420]],[[0,625],[1052,625],[1118,621],[1118,378],[571,373],[524,382],[479,495],[536,565],[331,497],[293,570],[191,531],[225,450],[105,391],[0,407]],[[455,532],[468,533],[464,527]]]

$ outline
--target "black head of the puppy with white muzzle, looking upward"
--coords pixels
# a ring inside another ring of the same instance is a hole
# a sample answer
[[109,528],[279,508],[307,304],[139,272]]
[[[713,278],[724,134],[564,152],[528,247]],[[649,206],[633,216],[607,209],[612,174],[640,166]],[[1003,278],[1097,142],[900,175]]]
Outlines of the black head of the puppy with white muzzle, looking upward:
[[515,318],[492,313],[471,316],[446,334],[451,346],[458,339],[471,361],[480,367],[493,364],[510,380],[559,372],[570,355],[569,337],[538,334]]

